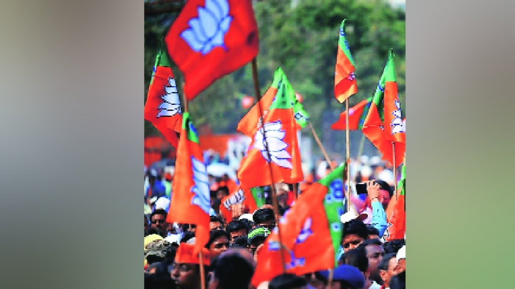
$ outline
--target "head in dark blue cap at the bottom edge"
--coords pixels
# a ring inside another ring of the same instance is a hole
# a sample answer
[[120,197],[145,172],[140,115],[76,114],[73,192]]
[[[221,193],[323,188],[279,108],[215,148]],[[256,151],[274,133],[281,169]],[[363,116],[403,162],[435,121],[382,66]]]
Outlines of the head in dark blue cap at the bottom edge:
[[[329,270],[319,271],[317,275],[320,275],[327,285]],[[364,287],[365,277],[356,267],[344,264],[334,268],[332,289],[364,289]]]

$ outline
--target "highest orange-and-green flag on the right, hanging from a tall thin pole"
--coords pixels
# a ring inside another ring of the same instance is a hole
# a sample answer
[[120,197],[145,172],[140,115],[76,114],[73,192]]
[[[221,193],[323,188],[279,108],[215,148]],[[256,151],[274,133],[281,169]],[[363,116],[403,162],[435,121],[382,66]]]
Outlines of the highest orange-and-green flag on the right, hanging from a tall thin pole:
[[338,52],[334,73],[334,96],[341,103],[357,93],[356,77],[354,75],[354,59],[352,59],[349,44],[345,39],[345,19],[340,25]]

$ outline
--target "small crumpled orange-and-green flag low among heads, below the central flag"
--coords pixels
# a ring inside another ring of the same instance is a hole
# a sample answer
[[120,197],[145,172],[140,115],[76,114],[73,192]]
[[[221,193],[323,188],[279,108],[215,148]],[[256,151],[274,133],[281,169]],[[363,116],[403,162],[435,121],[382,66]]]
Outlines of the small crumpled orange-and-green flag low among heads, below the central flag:
[[249,208],[249,213],[265,204],[265,193],[262,187],[245,189],[239,187],[234,193],[225,196],[220,202],[220,213],[227,222],[232,220],[233,205],[243,204]]

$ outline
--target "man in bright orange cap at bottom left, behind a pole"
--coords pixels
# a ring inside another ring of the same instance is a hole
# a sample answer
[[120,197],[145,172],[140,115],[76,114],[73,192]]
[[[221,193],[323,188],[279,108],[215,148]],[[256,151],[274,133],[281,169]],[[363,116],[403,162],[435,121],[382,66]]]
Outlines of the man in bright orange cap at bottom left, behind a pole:
[[[180,289],[200,289],[200,258],[194,254],[193,244],[181,243],[175,255],[174,264],[170,271],[170,277]],[[211,264],[209,250],[202,248],[202,265],[204,281],[207,287],[209,280],[209,265]]]

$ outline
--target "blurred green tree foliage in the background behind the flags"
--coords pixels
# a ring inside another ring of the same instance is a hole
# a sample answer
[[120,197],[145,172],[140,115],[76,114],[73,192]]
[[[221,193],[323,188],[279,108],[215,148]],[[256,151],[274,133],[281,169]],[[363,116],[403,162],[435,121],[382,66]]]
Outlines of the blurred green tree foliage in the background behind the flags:
[[[382,0],[270,0],[254,2],[259,26],[257,58],[261,93],[271,84],[273,71],[281,66],[311,116],[324,146],[338,150],[341,143],[329,126],[345,104],[334,98],[334,69],[341,21],[346,19],[346,38],[356,64],[358,93],[349,105],[371,96],[379,81],[388,51],[396,58],[401,106],[405,107],[405,11]],[[148,88],[158,45],[177,15],[145,17],[145,86]],[[173,67],[177,82],[182,76]],[[145,90],[146,92],[146,90]],[[197,127],[209,124],[214,133],[234,133],[247,110],[243,95],[255,95],[250,64],[217,80],[188,102]],[[404,111],[403,111],[404,113]],[[145,134],[156,134],[145,124]],[[341,151],[341,150],[340,150]]]

